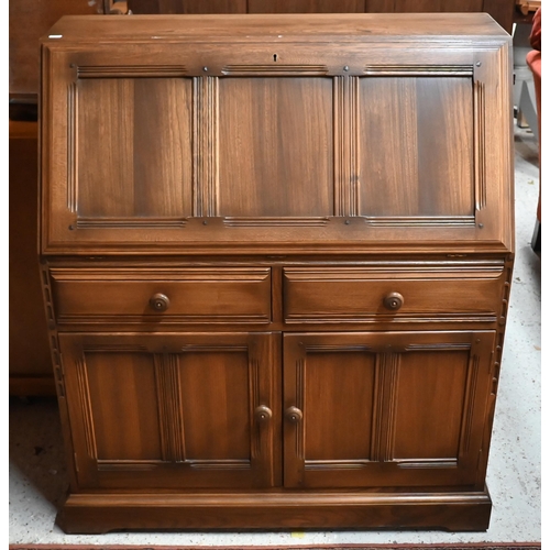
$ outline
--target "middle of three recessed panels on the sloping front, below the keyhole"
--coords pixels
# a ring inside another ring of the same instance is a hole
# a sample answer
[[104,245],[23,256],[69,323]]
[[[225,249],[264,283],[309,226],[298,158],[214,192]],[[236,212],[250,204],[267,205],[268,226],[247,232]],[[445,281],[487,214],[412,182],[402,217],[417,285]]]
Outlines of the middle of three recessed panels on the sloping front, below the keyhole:
[[219,87],[219,215],[332,216],[332,80],[222,78]]

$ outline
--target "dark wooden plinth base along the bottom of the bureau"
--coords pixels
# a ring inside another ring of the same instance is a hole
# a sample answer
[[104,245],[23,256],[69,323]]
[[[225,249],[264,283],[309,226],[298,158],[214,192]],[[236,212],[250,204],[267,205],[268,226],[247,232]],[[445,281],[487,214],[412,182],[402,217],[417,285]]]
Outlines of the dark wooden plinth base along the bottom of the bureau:
[[67,534],[154,529],[439,529],[485,531],[488,492],[73,494],[58,514]]

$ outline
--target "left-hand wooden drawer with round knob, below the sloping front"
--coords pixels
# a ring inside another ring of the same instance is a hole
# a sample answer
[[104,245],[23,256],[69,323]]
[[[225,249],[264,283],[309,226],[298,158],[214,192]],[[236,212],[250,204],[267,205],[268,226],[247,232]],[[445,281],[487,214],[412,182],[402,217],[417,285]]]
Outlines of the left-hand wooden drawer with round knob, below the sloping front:
[[59,323],[271,322],[271,270],[52,268]]

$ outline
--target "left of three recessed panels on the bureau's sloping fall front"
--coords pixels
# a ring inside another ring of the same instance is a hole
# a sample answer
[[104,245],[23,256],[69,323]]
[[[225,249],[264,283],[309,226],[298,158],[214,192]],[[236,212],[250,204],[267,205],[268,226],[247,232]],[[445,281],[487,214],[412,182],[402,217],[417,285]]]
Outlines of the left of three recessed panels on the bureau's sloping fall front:
[[189,216],[190,81],[81,78],[77,94],[80,222]]

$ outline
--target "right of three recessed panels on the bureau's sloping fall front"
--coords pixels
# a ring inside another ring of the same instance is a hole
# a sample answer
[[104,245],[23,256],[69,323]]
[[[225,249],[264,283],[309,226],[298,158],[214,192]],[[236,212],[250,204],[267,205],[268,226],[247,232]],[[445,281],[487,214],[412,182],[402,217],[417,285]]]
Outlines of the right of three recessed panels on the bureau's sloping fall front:
[[359,120],[360,216],[474,223],[471,77],[361,78]]

